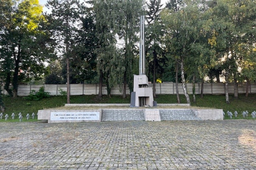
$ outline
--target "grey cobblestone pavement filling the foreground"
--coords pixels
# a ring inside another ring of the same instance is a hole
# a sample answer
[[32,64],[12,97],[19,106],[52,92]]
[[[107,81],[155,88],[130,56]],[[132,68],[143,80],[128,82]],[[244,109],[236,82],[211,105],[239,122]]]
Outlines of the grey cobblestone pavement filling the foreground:
[[0,169],[256,169],[255,120],[0,127]]

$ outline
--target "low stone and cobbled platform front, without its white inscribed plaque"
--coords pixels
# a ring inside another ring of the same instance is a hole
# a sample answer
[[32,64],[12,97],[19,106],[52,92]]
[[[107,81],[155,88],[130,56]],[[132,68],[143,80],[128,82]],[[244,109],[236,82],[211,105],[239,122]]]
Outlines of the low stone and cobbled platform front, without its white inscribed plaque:
[[[223,120],[222,109],[98,109],[98,110],[39,110],[38,120],[48,123],[84,122],[84,121],[52,121],[51,112],[92,112],[99,111],[99,121],[145,121],[146,111],[157,111],[158,121],[166,120]],[[72,116],[72,115],[71,115]],[[154,118],[155,119],[155,118]],[[153,119],[153,121],[154,121]],[[152,121],[152,120],[151,120]]]

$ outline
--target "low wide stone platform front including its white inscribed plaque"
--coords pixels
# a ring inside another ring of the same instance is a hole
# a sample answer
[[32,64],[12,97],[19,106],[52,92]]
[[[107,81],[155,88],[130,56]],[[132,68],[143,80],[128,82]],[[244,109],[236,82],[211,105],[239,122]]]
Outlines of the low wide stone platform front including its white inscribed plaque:
[[223,112],[222,109],[165,109],[143,107],[127,109],[39,110],[38,120],[47,120],[48,123],[223,120]]

